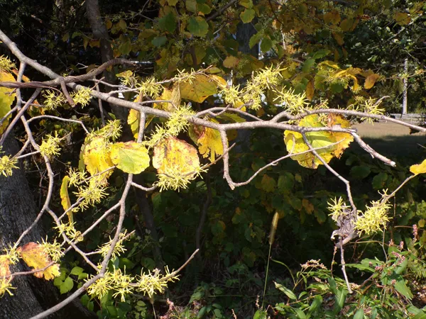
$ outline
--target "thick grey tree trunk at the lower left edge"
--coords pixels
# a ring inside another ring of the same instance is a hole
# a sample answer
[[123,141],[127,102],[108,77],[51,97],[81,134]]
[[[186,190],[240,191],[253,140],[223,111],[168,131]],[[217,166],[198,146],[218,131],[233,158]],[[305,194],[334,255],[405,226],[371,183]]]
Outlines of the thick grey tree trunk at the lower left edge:
[[[18,144],[11,135],[6,138],[2,151],[6,154],[18,152]],[[37,211],[22,167],[13,170],[11,177],[0,175],[0,251],[8,245],[13,245],[19,235],[33,223]],[[31,241],[40,242],[43,235],[44,232],[39,223],[24,237],[21,245]],[[27,269],[23,269],[21,264],[11,267],[11,272],[23,270]],[[0,298],[0,318],[2,319],[31,318],[62,300],[58,288],[53,286],[53,281],[28,275],[14,277],[11,284],[16,287],[12,290],[14,296],[5,293]],[[50,315],[49,318],[97,318],[97,316],[89,312],[77,300]]]

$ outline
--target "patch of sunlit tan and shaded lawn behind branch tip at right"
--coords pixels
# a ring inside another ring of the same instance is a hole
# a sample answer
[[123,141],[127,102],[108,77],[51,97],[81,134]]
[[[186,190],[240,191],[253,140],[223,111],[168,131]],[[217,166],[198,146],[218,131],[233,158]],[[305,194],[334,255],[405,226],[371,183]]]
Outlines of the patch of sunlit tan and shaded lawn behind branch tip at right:
[[426,133],[410,135],[410,129],[395,123],[376,122],[354,125],[363,140],[388,157],[425,157]]

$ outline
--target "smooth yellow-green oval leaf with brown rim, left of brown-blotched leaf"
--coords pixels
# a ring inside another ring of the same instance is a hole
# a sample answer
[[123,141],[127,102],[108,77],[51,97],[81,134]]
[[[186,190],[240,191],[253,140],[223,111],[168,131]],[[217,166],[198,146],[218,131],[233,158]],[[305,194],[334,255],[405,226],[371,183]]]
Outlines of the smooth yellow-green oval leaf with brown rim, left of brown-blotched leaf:
[[150,161],[146,147],[133,141],[114,143],[109,156],[116,167],[131,174],[143,172]]

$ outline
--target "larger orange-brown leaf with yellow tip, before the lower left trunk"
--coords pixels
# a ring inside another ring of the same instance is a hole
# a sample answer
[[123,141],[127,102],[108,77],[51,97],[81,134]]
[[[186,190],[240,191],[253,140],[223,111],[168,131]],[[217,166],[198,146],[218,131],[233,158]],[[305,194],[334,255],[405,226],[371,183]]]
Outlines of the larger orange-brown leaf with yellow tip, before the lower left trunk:
[[[19,247],[18,252],[28,267],[33,267],[33,269],[43,269],[52,262],[48,254],[44,252],[43,247],[35,242],[28,242],[23,247]],[[43,278],[44,276],[46,280],[54,279],[59,275],[59,264],[53,264],[48,269],[43,270],[43,272],[34,273],[37,278]]]

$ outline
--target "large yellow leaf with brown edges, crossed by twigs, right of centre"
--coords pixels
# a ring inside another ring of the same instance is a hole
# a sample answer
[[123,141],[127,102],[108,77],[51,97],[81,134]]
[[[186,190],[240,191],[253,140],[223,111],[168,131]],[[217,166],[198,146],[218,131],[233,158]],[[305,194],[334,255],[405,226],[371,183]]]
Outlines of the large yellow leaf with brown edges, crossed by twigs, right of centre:
[[[349,128],[349,122],[340,116],[329,117],[330,126],[339,125],[342,128]],[[299,126],[310,127],[310,128],[320,128],[325,125],[320,122],[319,116],[311,115],[303,118]],[[349,143],[353,140],[352,136],[348,133],[331,133],[326,131],[321,132],[307,132],[306,138],[310,145],[313,148],[323,147],[320,150],[317,150],[317,153],[324,159],[325,162],[329,162],[333,157],[340,157],[342,152],[346,147],[349,146]],[[337,145],[332,145],[335,142],[339,142]],[[289,153],[300,153],[309,150],[309,147],[305,144],[302,134],[293,132],[290,130],[285,130],[284,132],[284,142]],[[307,168],[316,169],[318,165],[322,164],[320,159],[318,159],[312,152],[306,152],[301,155],[293,155],[291,157],[294,160],[297,160],[300,165]]]

